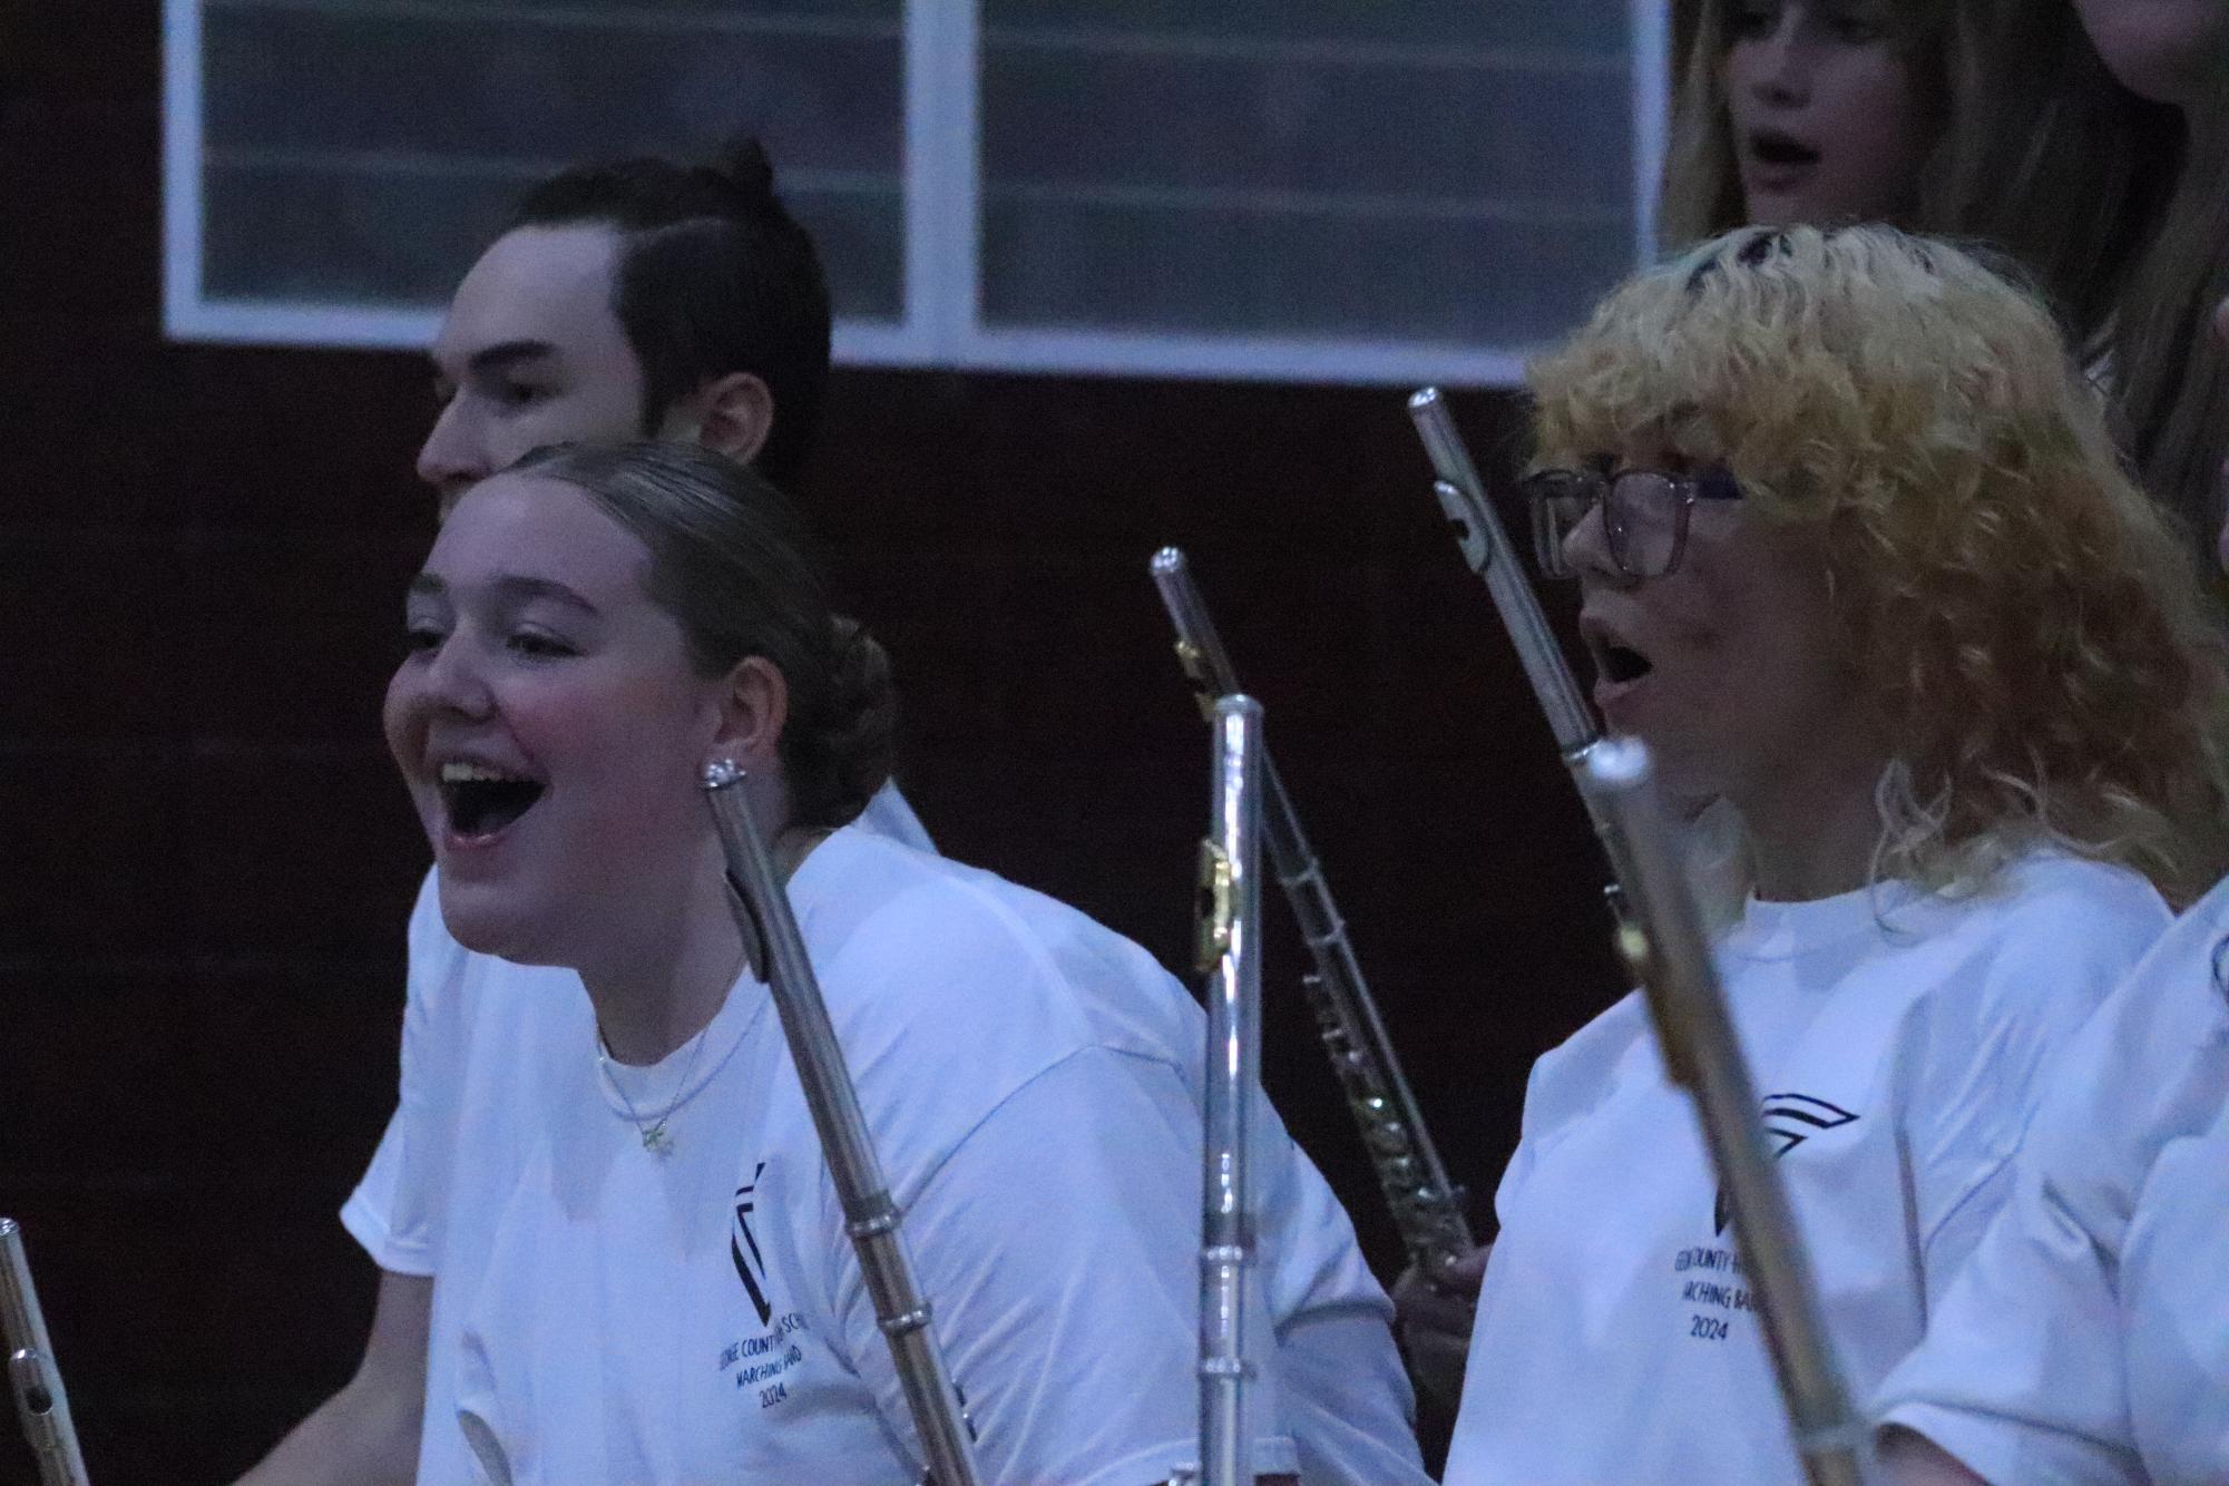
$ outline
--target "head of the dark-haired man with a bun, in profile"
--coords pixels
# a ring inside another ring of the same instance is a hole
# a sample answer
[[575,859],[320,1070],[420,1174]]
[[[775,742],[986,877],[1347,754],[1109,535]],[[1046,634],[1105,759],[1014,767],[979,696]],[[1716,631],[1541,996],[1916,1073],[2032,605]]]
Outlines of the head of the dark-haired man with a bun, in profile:
[[432,363],[419,477],[444,508],[573,439],[691,439],[794,488],[827,390],[829,292],[758,140],[716,165],[580,165],[519,198]]

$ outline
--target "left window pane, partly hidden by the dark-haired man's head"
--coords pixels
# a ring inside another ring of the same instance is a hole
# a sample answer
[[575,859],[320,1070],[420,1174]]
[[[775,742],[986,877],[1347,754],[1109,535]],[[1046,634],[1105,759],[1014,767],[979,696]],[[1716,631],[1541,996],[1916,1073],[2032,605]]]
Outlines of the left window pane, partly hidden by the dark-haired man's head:
[[849,319],[903,314],[903,0],[205,0],[203,294],[439,305],[519,189],[758,134]]

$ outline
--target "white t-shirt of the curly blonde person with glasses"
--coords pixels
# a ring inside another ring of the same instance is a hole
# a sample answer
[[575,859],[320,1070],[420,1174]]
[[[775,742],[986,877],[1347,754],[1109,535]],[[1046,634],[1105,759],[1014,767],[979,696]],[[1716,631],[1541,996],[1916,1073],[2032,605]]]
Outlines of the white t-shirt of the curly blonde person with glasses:
[[[2040,1069],[2167,927],[2138,876],[1750,902],[1719,942],[1828,1335],[1863,1401],[2004,1201]],[[1638,994],[1534,1065],[1449,1486],[1801,1479],[1687,1094]]]

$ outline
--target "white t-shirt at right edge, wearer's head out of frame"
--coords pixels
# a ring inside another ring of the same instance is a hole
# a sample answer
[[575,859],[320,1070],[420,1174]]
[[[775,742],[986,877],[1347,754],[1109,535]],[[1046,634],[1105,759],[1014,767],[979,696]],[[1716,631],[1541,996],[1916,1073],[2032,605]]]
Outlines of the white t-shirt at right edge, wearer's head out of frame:
[[1884,1424],[1990,1482],[2229,1479],[2229,884],[2069,1045]]

